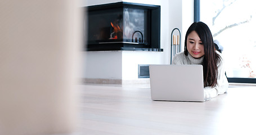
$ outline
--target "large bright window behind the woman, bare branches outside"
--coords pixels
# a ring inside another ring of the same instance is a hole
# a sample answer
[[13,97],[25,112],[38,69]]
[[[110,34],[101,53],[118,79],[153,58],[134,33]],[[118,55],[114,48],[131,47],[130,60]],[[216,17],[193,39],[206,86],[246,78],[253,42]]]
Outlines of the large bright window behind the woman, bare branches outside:
[[255,6],[250,0],[200,1],[200,21],[209,26],[213,39],[223,47],[229,82],[256,83]]

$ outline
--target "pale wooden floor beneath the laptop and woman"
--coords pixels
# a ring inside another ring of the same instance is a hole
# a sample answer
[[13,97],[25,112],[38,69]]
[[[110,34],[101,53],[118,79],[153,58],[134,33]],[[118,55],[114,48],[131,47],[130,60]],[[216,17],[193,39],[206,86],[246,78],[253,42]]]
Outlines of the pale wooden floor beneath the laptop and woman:
[[256,134],[256,86],[206,102],[152,101],[149,85],[79,86],[75,134]]

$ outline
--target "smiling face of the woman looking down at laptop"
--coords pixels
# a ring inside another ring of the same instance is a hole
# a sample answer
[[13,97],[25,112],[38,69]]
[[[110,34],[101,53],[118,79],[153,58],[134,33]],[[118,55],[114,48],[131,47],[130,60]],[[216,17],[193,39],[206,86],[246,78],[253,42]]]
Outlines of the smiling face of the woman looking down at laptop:
[[197,35],[196,31],[192,31],[187,35],[187,51],[194,58],[204,56],[204,44]]

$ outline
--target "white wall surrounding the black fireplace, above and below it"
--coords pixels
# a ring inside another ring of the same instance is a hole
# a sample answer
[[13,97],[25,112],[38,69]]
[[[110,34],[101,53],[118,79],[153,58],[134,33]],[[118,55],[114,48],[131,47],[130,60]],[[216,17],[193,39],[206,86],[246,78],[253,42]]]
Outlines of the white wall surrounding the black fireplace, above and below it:
[[[170,34],[174,28],[178,28],[179,30],[181,30],[181,33],[183,34],[182,6],[189,6],[191,4],[191,1],[192,0],[188,2],[180,0],[123,0],[123,2],[156,4],[161,6],[160,46],[161,48],[163,48],[164,51],[84,52],[84,56],[86,56],[87,60],[85,59],[84,61],[84,65],[86,65],[86,70],[84,71],[82,78],[142,80],[138,79],[138,64],[170,64]],[[92,6],[95,4],[105,4],[113,2],[121,2],[121,0],[88,1],[87,3],[84,2],[83,6]],[[192,11],[187,12],[191,13]],[[191,22],[192,21],[188,21],[187,23],[191,24]]]

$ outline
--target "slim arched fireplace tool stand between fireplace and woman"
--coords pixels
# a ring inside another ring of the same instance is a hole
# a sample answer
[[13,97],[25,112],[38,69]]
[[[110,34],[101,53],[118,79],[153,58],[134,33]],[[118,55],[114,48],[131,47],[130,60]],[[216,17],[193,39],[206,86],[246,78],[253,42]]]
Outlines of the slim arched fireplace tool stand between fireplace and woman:
[[[178,35],[173,35],[173,31],[178,30]],[[172,30],[170,34],[170,64],[172,64],[172,58],[176,53],[181,52],[181,31],[178,28]]]

